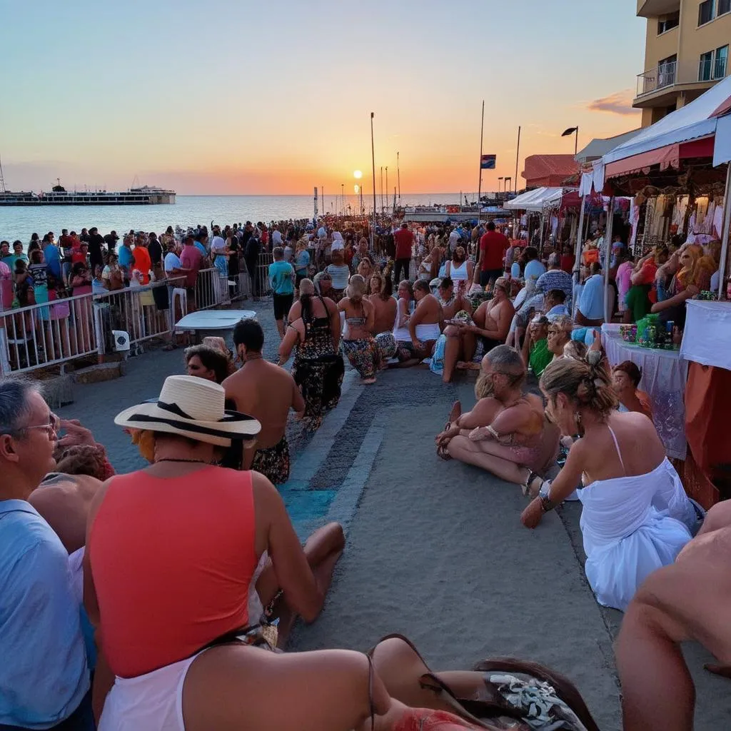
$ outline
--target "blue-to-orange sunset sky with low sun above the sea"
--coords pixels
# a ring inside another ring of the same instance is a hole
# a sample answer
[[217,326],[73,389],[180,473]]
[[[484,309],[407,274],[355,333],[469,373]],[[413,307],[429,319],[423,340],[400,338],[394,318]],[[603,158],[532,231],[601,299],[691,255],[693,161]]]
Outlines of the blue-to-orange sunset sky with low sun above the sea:
[[[640,124],[635,0],[0,0],[8,189],[483,190],[525,156]],[[393,176],[393,177],[392,177]],[[520,178],[519,187],[523,179]],[[135,181],[136,182],[136,181]]]

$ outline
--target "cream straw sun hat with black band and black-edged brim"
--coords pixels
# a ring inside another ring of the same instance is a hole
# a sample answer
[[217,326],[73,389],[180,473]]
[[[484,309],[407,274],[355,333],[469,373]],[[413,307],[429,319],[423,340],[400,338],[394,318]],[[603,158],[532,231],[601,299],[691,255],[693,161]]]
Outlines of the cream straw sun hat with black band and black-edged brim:
[[124,409],[114,423],[219,447],[230,447],[232,439],[257,436],[262,425],[248,414],[228,411],[225,401],[226,392],[217,383],[196,376],[167,376],[158,398]]

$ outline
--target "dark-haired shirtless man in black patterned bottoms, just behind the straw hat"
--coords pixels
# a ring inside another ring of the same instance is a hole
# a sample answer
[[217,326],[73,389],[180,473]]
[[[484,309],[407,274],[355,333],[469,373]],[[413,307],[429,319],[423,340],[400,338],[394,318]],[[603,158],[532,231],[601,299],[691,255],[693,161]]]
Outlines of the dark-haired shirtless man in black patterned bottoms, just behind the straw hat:
[[289,479],[289,444],[284,431],[289,409],[305,411],[305,400],[295,379],[262,357],[264,331],[255,319],[245,319],[233,330],[233,341],[243,366],[221,384],[237,411],[262,425],[254,449],[246,450],[243,469],[253,469],[274,485]]

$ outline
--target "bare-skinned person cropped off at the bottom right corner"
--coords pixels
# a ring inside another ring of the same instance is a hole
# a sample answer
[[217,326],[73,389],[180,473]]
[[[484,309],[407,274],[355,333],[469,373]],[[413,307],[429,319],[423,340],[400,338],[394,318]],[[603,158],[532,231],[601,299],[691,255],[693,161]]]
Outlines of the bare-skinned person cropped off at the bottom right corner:
[[622,621],[616,661],[624,731],[691,731],[695,688],[681,643],[695,640],[731,677],[731,503],[708,511],[697,536],[675,563],[640,586]]

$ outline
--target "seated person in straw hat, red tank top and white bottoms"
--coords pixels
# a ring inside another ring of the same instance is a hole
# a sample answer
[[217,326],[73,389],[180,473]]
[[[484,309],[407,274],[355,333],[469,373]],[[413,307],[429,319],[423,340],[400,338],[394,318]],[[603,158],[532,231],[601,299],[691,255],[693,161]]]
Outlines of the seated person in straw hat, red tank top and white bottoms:
[[[192,376],[170,376],[156,401],[115,423],[151,433],[154,453],[147,468],[107,480],[89,514],[84,581],[100,648],[99,728],[302,727],[284,718],[292,707],[295,718],[317,719],[313,727],[355,726],[368,711],[367,659],[325,652],[290,662],[268,651],[274,641],[257,624],[252,586],[264,604],[281,586],[292,612],[314,621],[344,545],[330,524],[303,550],[265,477],[216,465],[260,423],[226,411],[224,390]],[[321,692],[302,683],[314,671]],[[292,705],[263,700],[275,685]],[[361,700],[338,725],[327,705],[342,693]]]

